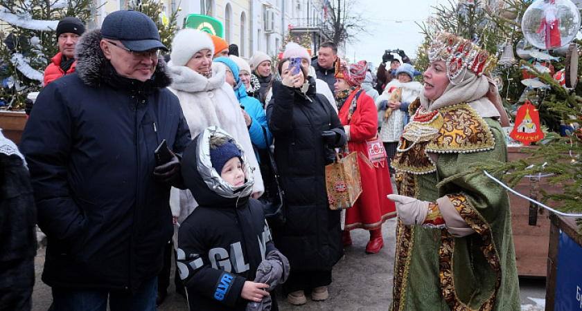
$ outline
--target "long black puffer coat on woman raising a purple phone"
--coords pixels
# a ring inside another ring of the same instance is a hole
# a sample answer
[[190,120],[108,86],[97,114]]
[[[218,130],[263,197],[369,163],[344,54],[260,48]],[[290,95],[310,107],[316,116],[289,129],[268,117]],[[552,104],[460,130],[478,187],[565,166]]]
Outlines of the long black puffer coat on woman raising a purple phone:
[[306,94],[299,88],[273,84],[267,107],[275,138],[274,158],[285,190],[285,225],[272,228],[275,245],[294,271],[330,271],[344,254],[340,211],[329,209],[326,193],[326,144],[322,131],[335,131],[335,145],[346,142],[344,126],[310,79]]

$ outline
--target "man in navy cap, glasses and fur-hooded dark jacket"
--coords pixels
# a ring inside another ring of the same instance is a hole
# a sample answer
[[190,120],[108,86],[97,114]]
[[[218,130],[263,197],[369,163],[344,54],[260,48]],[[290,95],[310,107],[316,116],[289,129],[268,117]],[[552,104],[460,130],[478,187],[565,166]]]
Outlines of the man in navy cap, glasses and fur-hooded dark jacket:
[[[78,41],[76,72],[39,93],[24,129],[55,311],[156,308],[170,185],[183,184],[175,154],[191,140],[159,49],[147,15],[107,15]],[[170,160],[157,164],[163,140]]]

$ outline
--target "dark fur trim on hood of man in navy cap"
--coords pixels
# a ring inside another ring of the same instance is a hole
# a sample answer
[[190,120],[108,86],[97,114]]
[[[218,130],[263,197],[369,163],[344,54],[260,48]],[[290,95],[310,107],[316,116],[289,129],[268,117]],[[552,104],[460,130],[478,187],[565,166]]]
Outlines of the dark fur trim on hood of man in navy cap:
[[[114,75],[116,75],[111,62],[105,58],[103,50],[100,48],[101,30],[93,29],[85,32],[75,48],[75,58],[77,59],[76,73],[78,73],[83,83],[88,86],[100,86],[109,84],[116,86]],[[165,88],[172,83],[170,75],[164,62],[164,57],[158,56],[158,64],[152,79],[147,82],[155,88]]]

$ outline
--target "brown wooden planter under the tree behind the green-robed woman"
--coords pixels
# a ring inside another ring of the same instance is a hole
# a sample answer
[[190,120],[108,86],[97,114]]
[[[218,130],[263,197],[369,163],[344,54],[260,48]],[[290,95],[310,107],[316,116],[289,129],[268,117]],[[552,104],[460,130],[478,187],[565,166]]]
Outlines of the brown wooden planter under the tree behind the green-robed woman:
[[[527,159],[530,154],[521,153],[520,150],[535,148],[537,147],[508,147],[508,160]],[[524,178],[513,189],[520,194],[530,196],[531,184],[529,178]],[[549,185],[545,178],[538,182],[538,187],[550,194],[562,192],[561,185]],[[540,199],[541,194],[538,195],[538,201]],[[511,192],[509,200],[511,203],[511,229],[513,229],[518,274],[520,276],[545,277],[547,275],[547,245],[549,244],[549,213],[544,211],[544,214],[538,214],[536,225],[529,225],[529,201]],[[553,207],[551,202],[548,205]]]

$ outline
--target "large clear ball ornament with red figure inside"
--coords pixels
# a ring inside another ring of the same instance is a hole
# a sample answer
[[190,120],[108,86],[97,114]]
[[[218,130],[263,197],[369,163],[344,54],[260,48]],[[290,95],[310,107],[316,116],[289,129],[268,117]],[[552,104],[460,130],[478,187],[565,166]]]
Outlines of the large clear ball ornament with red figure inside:
[[543,50],[570,44],[579,28],[580,13],[570,0],[536,0],[522,19],[525,39]]

